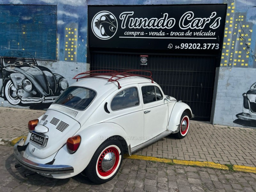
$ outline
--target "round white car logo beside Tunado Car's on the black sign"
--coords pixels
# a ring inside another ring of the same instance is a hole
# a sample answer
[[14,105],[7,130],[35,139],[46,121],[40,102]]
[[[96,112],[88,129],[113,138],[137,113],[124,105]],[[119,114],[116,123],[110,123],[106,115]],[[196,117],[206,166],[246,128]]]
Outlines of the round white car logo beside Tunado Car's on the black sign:
[[98,12],[92,19],[92,32],[102,40],[107,40],[116,34],[117,20],[115,15],[108,11]]

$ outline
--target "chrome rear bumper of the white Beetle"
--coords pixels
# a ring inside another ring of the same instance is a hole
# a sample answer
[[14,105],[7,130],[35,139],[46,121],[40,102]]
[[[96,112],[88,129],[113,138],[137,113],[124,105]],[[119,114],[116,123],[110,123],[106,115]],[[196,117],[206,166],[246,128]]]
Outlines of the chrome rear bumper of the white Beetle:
[[49,164],[40,164],[33,161],[30,161],[26,159],[25,157],[20,155],[21,151],[25,151],[27,145],[18,146],[20,141],[23,139],[20,139],[15,145],[14,145],[14,156],[16,160],[21,164],[23,167],[37,172],[39,174],[47,176],[47,174],[64,174],[64,173],[73,173],[74,168],[69,165],[49,165]]

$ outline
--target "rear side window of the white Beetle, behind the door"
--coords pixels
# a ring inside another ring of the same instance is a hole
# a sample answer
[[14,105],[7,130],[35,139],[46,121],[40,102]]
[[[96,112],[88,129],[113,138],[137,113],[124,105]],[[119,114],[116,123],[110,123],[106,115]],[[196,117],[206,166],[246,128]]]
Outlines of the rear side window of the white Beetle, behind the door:
[[139,105],[138,90],[136,87],[125,89],[116,94],[111,101],[111,109],[118,110]]

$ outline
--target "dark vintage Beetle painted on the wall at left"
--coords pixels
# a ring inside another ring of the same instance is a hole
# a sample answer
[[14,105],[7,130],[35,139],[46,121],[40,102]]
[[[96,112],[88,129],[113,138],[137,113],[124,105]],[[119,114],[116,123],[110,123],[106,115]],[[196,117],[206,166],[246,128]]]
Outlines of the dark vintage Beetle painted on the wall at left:
[[0,57],[0,93],[12,105],[51,103],[67,87],[63,76],[34,59]]

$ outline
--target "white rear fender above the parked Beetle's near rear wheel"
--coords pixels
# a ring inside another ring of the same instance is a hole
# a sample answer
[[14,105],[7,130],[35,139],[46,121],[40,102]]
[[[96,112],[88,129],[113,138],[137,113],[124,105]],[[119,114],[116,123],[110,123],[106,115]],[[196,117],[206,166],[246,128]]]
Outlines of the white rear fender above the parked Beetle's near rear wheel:
[[[124,139],[127,137],[124,129],[114,123],[95,124],[83,131],[76,132],[75,135],[81,136],[81,143],[77,151],[74,154],[69,154],[65,145],[58,151],[54,161],[56,165],[66,164],[74,167],[74,173],[71,173],[72,176],[77,175],[87,167],[93,154],[105,140],[111,136],[121,136]],[[125,142],[127,146],[130,145],[128,140],[125,140]],[[65,178],[64,175],[54,175],[53,177]]]

